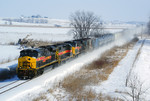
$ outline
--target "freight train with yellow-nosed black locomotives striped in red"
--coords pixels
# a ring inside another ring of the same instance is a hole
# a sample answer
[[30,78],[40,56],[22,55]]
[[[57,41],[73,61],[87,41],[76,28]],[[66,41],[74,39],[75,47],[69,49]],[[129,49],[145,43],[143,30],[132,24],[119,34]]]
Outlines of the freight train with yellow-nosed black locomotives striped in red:
[[71,58],[99,48],[114,40],[115,34],[104,34],[98,37],[65,41],[21,50],[16,74],[19,79],[32,79],[43,74],[46,68],[54,69]]

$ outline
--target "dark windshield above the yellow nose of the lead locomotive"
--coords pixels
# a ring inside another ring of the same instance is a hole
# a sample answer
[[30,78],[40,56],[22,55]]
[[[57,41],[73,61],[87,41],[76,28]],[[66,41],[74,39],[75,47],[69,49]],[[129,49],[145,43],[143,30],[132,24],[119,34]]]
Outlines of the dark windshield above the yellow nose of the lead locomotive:
[[23,57],[23,56],[30,56],[30,57],[38,57],[38,52],[36,50],[31,50],[31,49],[28,49],[28,50],[22,50],[20,52],[20,57]]

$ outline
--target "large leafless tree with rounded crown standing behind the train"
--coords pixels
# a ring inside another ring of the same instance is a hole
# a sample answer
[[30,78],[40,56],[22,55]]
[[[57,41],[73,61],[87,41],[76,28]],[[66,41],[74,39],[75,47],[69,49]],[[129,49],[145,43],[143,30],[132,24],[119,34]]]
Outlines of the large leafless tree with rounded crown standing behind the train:
[[70,16],[75,39],[88,38],[90,34],[99,34],[102,27],[99,17],[92,12],[77,11]]

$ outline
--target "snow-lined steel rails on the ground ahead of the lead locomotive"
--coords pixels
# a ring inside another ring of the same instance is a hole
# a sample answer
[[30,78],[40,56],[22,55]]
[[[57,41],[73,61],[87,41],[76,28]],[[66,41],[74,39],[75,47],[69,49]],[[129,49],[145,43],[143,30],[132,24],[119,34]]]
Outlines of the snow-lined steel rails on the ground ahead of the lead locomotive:
[[8,92],[14,88],[17,88],[18,86],[23,85],[29,81],[30,80],[17,80],[17,81],[9,83],[7,85],[4,85],[4,86],[0,87],[0,95],[5,93],[5,92]]

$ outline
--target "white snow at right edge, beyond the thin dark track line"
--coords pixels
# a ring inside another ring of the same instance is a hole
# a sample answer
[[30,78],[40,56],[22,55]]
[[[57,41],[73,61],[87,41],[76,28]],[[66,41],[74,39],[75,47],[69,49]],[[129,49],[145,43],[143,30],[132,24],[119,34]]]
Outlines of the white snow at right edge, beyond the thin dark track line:
[[144,46],[141,50],[133,71],[139,77],[141,83],[143,83],[143,89],[148,89],[145,96],[145,100],[150,100],[150,39],[145,40]]

